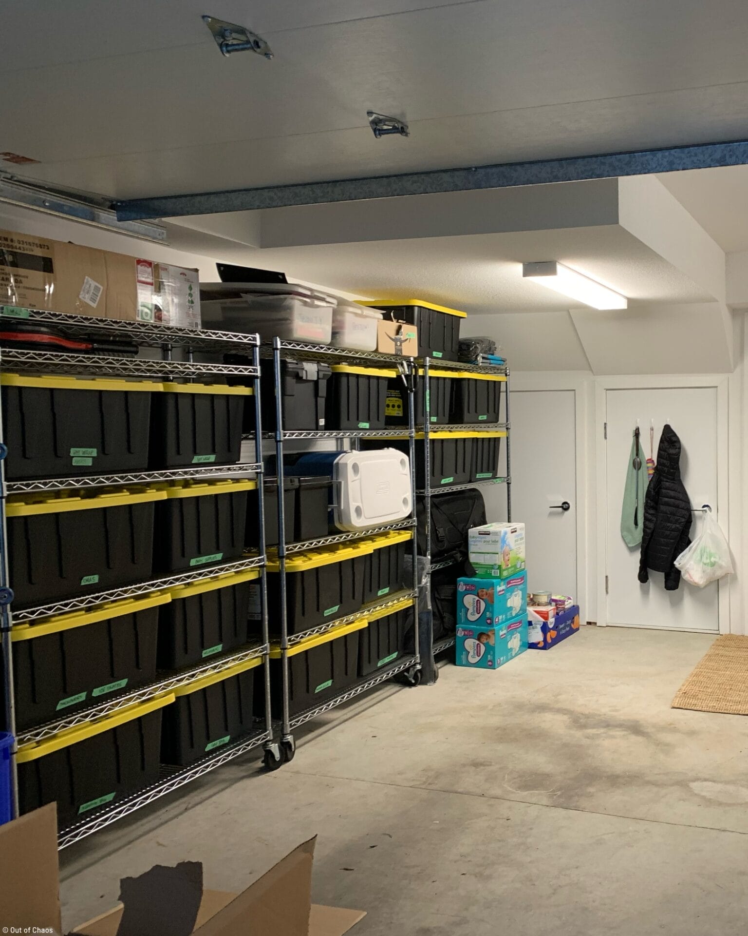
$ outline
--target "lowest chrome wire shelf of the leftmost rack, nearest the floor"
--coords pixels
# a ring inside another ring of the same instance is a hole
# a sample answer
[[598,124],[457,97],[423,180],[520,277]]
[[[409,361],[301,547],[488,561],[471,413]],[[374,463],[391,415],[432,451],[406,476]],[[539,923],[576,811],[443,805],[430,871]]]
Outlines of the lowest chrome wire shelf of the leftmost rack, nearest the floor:
[[96,812],[90,819],[74,823],[71,826],[65,826],[65,828],[60,831],[57,840],[58,849],[62,850],[68,845],[85,839],[86,836],[98,832],[99,829],[110,826],[112,823],[123,819],[132,812],[136,812],[136,810],[141,809],[143,806],[148,806],[154,800],[165,797],[166,794],[172,793],[174,790],[178,790],[180,786],[184,786],[185,783],[203,777],[211,770],[221,767],[227,761],[234,760],[235,757],[239,757],[241,754],[249,753],[252,749],[259,747],[260,744],[264,744],[270,739],[271,734],[269,731],[266,731],[265,728],[258,728],[251,734],[246,735],[243,739],[238,739],[233,744],[228,744],[226,747],[221,748],[220,753],[212,754],[209,757],[204,757],[202,760],[197,761],[192,767],[162,767],[162,777],[159,782],[154,783],[152,786],[147,787],[145,790],[142,790],[132,797],[122,799],[122,802],[110,806],[102,812]]

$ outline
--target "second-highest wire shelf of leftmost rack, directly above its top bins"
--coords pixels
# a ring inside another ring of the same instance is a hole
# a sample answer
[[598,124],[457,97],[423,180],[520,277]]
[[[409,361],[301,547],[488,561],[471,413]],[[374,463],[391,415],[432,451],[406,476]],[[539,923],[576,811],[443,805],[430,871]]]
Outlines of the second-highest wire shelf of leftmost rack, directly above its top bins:
[[208,364],[197,361],[151,360],[115,355],[69,354],[62,351],[3,349],[4,371],[44,371],[56,374],[92,373],[107,377],[223,377],[236,374],[257,377],[260,369],[239,364]]

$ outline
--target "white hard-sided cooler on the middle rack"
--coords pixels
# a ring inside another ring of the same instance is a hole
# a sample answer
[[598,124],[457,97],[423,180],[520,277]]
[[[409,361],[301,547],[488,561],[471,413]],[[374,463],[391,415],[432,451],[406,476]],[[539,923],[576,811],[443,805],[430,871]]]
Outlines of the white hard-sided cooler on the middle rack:
[[394,523],[410,515],[410,459],[396,448],[346,452],[335,462],[341,530]]

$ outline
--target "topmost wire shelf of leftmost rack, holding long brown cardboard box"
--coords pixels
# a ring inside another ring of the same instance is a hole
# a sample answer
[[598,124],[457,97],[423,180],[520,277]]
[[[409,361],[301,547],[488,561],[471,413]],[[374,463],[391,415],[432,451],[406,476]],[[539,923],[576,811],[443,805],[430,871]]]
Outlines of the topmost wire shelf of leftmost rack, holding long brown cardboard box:
[[17,306],[0,305],[0,314],[7,318],[22,319],[49,325],[62,334],[75,337],[99,336],[122,338],[132,344],[162,347],[192,348],[194,351],[239,352],[251,350],[259,344],[257,335],[245,335],[233,331],[209,331],[208,329],[178,329],[157,322],[125,322],[112,318],[95,318],[89,315],[69,315],[43,309],[25,309]]

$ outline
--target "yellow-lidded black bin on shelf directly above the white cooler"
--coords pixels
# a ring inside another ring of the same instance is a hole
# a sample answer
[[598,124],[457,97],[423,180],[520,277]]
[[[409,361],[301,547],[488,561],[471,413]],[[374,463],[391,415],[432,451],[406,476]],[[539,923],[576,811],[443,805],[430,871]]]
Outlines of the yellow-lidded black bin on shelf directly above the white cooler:
[[325,429],[384,429],[387,383],[397,372],[334,364],[327,388]]

